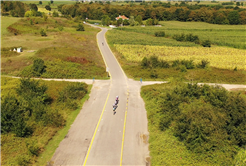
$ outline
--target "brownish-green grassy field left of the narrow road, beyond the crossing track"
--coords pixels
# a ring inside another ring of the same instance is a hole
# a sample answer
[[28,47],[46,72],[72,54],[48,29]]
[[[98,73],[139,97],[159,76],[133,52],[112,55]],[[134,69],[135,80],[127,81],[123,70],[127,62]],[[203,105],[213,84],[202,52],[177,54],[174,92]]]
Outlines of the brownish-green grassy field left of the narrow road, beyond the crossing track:
[[[7,19],[4,17],[3,21]],[[12,57],[2,54],[2,74],[28,76],[27,71],[33,60],[42,58],[47,72],[41,77],[106,78],[105,65],[95,37],[99,29],[85,25],[85,31],[76,31],[79,23],[63,18],[31,20],[33,25],[30,24],[30,18],[23,18],[11,25],[18,35],[8,32],[3,35],[3,48],[21,46],[23,52]],[[45,30],[46,37],[40,35],[41,29]]]

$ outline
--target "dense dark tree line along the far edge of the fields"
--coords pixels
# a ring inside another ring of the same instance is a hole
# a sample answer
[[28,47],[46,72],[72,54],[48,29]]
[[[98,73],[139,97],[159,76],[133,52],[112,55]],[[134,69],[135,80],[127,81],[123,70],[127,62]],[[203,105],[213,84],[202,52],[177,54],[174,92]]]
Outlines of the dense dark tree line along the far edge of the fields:
[[58,10],[63,15],[80,17],[82,19],[101,20],[104,15],[115,20],[119,15],[141,16],[143,20],[153,19],[159,21],[201,21],[212,24],[246,24],[246,10],[238,7],[223,7],[222,5],[109,5],[109,4],[73,4],[59,5]]

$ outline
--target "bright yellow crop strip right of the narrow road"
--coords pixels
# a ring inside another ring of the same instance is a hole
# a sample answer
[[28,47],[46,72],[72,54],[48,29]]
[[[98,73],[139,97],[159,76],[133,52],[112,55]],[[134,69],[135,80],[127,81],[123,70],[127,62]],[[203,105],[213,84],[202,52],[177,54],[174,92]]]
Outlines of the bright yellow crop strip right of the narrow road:
[[198,64],[208,60],[210,66],[221,69],[246,70],[245,50],[228,47],[168,47],[141,45],[114,45],[127,61],[140,62],[144,57],[158,56],[165,61],[193,60]]

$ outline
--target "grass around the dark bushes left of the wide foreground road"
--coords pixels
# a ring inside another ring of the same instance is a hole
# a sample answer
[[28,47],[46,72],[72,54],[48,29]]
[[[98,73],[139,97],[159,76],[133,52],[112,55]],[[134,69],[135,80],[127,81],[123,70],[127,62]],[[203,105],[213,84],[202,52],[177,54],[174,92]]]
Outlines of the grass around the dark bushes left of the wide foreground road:
[[[15,87],[19,84],[19,79],[0,77],[0,97],[3,98],[7,94],[15,94]],[[53,99],[51,107],[53,109],[59,110],[59,113],[66,120],[64,127],[51,127],[42,125],[36,127],[34,133],[26,138],[15,137],[14,134],[0,134],[0,144],[1,146],[1,164],[3,165],[17,165],[19,162],[25,160],[30,160],[30,165],[46,165],[59,145],[60,141],[64,138],[70,125],[73,123],[77,114],[79,113],[83,103],[89,98],[89,93],[91,86],[88,87],[88,93],[82,100],[76,102],[80,103],[78,108],[74,111],[68,109],[67,106],[55,104],[57,97],[59,96],[59,91],[61,91],[65,86],[75,84],[71,82],[60,82],[60,81],[40,81],[42,84],[46,84],[48,87],[47,94]],[[54,137],[54,138],[53,138]],[[53,138],[53,139],[52,139]],[[49,141],[51,142],[49,143]],[[27,143],[34,142],[39,150],[38,156],[29,155]],[[37,162],[37,164],[36,164]]]

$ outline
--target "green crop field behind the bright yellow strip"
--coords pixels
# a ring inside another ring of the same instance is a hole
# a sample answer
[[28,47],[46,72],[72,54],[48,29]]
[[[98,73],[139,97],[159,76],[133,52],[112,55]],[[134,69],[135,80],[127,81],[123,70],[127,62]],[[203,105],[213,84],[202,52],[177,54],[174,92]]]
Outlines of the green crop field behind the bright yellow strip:
[[[213,45],[228,46],[233,48],[246,49],[245,46],[245,25],[216,25],[204,22],[178,22],[178,21],[160,21],[162,27],[146,26],[146,27],[123,27],[113,30],[109,36],[119,35],[118,38],[110,39],[114,44],[130,44],[134,38],[139,39],[141,36],[148,36],[147,41],[132,42],[132,44],[143,45],[168,45],[170,46],[170,38],[174,34],[190,34],[197,35],[201,41],[209,39]],[[128,35],[121,36],[123,32],[129,32]],[[154,40],[154,34],[157,31],[164,31],[167,38]],[[131,32],[131,33],[130,33]],[[169,39],[169,40],[168,40]],[[122,42],[124,40],[128,43]],[[158,41],[158,42],[157,42]],[[173,46],[185,46],[183,42],[172,42]]]

